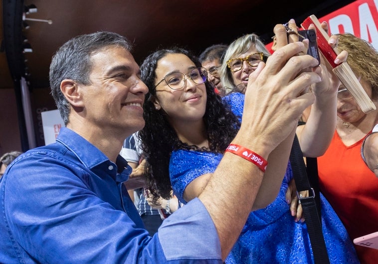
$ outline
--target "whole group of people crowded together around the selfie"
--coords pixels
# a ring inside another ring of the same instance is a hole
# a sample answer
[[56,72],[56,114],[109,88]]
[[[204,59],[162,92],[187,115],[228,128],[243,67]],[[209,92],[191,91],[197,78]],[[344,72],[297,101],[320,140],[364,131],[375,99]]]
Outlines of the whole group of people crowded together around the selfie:
[[[0,262],[313,263],[297,136],[318,159],[330,263],[375,263],[353,239],[378,231],[378,110],[364,113],[308,40],[274,33],[273,54],[245,34],[199,56],[160,49],[140,67],[116,33],[63,44],[50,87],[66,127],[0,159]],[[329,45],[378,106],[377,51],[352,34]]]

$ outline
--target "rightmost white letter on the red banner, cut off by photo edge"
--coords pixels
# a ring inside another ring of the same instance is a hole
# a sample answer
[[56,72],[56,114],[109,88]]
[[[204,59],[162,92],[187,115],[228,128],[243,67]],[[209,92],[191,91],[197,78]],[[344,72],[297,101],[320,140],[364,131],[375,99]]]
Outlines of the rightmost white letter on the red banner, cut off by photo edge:
[[[377,5],[376,5],[377,6]],[[378,30],[374,23],[372,12],[368,3],[359,6],[360,16],[360,37],[372,42],[373,47],[378,50]]]

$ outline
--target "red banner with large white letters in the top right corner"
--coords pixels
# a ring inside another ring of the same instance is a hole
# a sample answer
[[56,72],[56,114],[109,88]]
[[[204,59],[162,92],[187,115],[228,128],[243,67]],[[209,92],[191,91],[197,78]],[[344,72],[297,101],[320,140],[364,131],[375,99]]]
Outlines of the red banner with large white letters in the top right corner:
[[[318,19],[328,23],[330,34],[352,33],[378,50],[378,0],[357,0]],[[272,44],[266,45],[269,51]]]

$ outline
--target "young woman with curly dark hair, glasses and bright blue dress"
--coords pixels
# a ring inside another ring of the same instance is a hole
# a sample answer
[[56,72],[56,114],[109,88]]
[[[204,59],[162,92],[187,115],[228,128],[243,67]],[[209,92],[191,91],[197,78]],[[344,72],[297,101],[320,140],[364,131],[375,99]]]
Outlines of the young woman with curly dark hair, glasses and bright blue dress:
[[[142,64],[141,72],[141,79],[149,88],[144,103],[146,125],[140,131],[148,163],[149,187],[156,195],[167,198],[173,187],[179,200],[187,203],[201,193],[236,135],[244,94],[230,93],[223,98],[215,94],[198,61],[180,48],[151,54]],[[336,105],[326,105],[322,100],[333,98],[336,101],[337,88],[322,88],[322,93],[317,94],[317,103],[323,106],[319,111],[334,111]],[[316,124],[319,130],[327,130],[325,124],[315,121],[316,116],[312,120],[310,127]],[[327,121],[332,122],[324,122]],[[306,131],[311,130],[300,128],[297,131],[299,138],[310,137]],[[293,134],[295,132],[293,130]],[[311,137],[316,140],[302,141],[305,152],[311,150],[318,155],[317,152],[322,151],[321,145],[327,145],[327,140],[318,138],[320,134],[311,131]],[[251,208],[253,212],[226,263],[311,262],[305,223],[294,221],[285,195],[292,178],[286,155],[291,144],[292,137],[288,137],[269,155],[269,165]],[[214,199],[217,199],[216,193]],[[323,232],[331,263],[357,263],[353,245],[339,218],[327,201],[322,208]],[[275,237],[278,233],[280,239]]]

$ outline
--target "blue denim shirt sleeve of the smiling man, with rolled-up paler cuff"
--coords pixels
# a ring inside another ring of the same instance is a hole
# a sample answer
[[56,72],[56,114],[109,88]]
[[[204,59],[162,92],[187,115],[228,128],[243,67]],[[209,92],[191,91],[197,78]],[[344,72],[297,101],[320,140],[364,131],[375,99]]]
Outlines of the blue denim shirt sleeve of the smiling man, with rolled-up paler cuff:
[[[20,159],[8,172],[0,182],[4,263],[221,263],[214,224],[199,200],[151,238],[122,205],[95,192],[86,177],[96,175],[55,153]],[[98,180],[115,190],[106,195],[119,197],[114,182]]]

